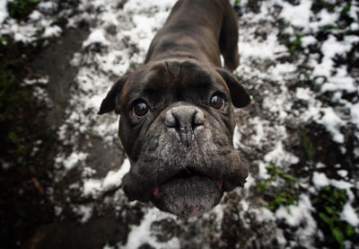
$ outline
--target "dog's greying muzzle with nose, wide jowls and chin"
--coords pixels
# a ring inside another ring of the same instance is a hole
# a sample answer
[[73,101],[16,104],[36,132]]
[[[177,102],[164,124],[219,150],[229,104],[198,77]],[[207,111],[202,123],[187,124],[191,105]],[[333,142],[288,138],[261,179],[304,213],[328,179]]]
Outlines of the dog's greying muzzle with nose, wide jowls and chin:
[[176,102],[153,121],[138,160],[123,179],[129,200],[151,200],[190,217],[217,204],[223,191],[242,186],[248,166],[223,124],[188,102]]

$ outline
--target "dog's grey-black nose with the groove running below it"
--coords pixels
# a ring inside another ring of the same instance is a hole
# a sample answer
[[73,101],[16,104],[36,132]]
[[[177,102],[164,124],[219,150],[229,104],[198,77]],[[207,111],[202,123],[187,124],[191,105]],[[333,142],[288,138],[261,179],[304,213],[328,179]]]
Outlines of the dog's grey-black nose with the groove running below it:
[[180,141],[186,147],[192,143],[193,130],[205,122],[205,114],[196,106],[180,105],[166,112],[164,124],[176,129],[180,135]]

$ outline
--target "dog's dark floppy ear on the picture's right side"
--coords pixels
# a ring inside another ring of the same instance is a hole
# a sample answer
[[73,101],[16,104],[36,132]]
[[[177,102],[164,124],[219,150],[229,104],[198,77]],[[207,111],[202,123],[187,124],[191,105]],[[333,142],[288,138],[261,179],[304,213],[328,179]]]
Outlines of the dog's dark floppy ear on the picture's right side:
[[229,71],[221,67],[216,67],[215,70],[223,77],[223,80],[228,85],[233,105],[237,108],[247,106],[250,103],[250,94],[247,93],[243,85],[241,85],[241,83]]

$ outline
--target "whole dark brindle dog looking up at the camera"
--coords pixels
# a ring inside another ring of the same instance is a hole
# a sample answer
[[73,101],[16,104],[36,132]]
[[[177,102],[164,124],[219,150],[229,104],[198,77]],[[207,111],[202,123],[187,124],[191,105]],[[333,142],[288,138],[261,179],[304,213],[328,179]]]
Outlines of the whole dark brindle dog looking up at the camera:
[[232,75],[237,44],[228,0],[180,0],[144,65],[110,88],[99,114],[121,114],[129,200],[188,218],[212,209],[224,191],[243,187],[249,167],[232,145],[233,106],[245,107],[250,95]]

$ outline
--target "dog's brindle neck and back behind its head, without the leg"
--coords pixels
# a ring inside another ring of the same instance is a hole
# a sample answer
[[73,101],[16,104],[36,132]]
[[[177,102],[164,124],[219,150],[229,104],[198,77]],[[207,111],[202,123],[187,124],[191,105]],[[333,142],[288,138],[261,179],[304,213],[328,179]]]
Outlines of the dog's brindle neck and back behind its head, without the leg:
[[153,38],[144,64],[190,58],[202,64],[221,67],[218,42],[223,22],[223,3],[213,0],[180,0]]

